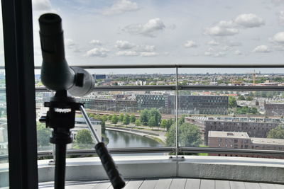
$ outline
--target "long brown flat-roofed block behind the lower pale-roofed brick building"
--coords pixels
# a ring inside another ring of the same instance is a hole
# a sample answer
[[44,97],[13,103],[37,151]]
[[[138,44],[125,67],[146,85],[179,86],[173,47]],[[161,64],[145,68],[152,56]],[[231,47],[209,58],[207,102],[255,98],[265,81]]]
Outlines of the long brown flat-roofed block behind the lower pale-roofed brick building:
[[283,119],[269,118],[242,118],[242,117],[185,117],[185,122],[190,122],[200,127],[204,132],[205,144],[208,144],[209,131],[247,132],[249,137],[266,138],[268,132],[280,125]]

